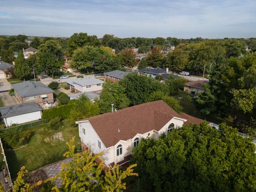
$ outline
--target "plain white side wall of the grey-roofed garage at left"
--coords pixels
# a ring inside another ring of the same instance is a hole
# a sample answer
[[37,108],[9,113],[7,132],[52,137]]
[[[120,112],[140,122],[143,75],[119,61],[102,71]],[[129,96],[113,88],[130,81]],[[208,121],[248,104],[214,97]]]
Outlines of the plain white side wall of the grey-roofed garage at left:
[[6,126],[10,126],[12,124],[26,123],[26,122],[41,119],[41,115],[42,115],[42,111],[36,111],[33,113],[18,115],[14,117],[7,117],[7,118],[4,118],[4,123]]

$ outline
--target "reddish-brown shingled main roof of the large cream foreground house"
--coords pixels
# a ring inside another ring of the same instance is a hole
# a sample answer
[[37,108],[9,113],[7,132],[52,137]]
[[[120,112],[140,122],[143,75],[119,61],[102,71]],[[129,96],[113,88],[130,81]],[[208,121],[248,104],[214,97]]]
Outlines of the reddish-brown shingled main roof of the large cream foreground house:
[[[136,134],[159,131],[173,117],[182,118],[163,100],[143,103],[113,113],[106,113],[88,120],[108,148],[120,140],[128,140]],[[81,120],[81,121],[84,121]],[[118,129],[120,132],[118,132]]]

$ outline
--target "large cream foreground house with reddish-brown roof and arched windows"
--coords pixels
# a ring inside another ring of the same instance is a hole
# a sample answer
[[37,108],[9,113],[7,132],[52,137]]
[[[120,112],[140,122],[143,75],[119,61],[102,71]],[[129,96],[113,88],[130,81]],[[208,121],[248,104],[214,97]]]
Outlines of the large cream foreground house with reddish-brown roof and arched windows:
[[142,138],[158,139],[183,124],[201,123],[187,114],[178,114],[164,101],[154,101],[77,121],[82,149],[104,152],[104,163],[112,167],[129,162],[133,147]]

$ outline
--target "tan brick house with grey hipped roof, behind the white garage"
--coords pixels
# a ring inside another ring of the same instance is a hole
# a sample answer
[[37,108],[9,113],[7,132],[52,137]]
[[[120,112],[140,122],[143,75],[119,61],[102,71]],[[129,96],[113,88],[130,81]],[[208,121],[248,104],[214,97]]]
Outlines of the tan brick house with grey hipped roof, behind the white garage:
[[13,84],[12,88],[20,103],[36,102],[41,106],[53,103],[53,90],[41,82],[21,82]]

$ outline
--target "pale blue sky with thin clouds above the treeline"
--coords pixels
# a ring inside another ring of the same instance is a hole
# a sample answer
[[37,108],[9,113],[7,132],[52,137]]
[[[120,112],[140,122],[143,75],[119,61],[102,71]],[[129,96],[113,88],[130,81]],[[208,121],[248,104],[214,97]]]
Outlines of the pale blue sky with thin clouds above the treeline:
[[256,37],[256,0],[0,0],[0,35]]

